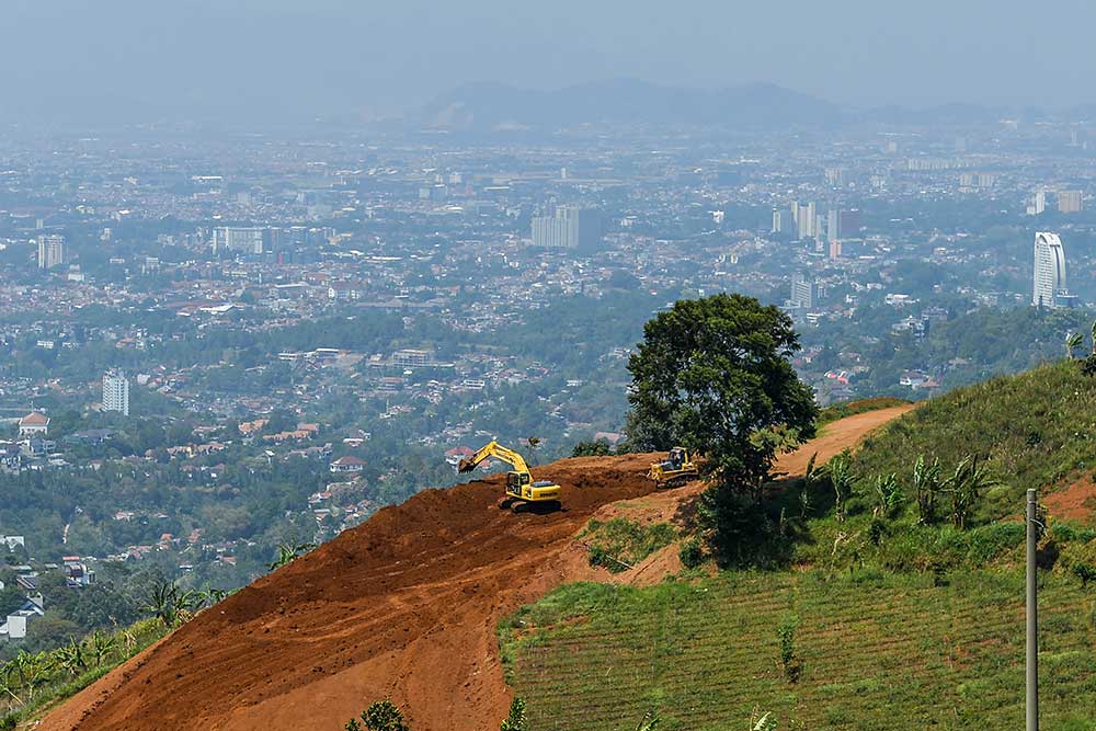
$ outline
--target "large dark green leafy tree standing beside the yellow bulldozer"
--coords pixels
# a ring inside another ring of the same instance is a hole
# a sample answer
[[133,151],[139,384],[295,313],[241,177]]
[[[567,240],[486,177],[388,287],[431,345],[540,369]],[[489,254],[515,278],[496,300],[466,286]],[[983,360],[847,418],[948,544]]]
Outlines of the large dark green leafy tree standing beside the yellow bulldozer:
[[756,524],[752,505],[777,453],[814,435],[818,406],[789,361],[798,350],[781,310],[720,294],[660,312],[628,363],[628,437],[637,448],[680,444],[706,458],[715,484],[703,512],[721,555],[740,553],[743,525]]

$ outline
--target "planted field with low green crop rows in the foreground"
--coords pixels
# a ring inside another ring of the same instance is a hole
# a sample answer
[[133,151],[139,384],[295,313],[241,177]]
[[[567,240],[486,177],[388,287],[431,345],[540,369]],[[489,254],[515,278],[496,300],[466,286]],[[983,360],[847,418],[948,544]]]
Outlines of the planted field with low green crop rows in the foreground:
[[[1041,596],[1042,728],[1096,729],[1096,593],[1054,575]],[[798,623],[790,683],[777,629]],[[861,580],[727,572],[636,590],[573,584],[500,627],[535,731],[745,728],[1017,729],[1024,724],[1023,578]]]

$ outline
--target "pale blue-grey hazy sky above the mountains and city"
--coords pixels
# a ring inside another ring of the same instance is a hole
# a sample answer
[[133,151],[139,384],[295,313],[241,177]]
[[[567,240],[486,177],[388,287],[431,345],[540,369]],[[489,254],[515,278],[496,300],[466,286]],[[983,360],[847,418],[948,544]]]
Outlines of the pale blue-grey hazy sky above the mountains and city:
[[0,0],[4,116],[391,113],[467,81],[1096,102],[1087,0]]

